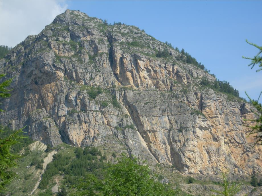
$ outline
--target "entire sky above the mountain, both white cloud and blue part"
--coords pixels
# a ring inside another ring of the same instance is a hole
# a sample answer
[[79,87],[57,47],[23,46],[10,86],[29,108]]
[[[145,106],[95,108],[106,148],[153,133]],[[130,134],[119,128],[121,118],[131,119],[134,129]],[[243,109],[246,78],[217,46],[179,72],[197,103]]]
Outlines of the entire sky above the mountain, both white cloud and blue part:
[[[14,47],[38,34],[65,9],[138,26],[160,41],[184,48],[219,80],[257,99],[262,71],[242,56],[253,57],[262,45],[262,1],[3,1],[0,43]],[[260,100],[262,102],[262,98]]]

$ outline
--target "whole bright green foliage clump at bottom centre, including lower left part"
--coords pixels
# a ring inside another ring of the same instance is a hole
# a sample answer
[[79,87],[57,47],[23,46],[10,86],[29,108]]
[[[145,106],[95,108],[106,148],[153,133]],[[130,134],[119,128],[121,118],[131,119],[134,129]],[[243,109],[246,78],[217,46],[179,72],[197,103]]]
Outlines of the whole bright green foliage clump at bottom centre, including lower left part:
[[105,176],[99,180],[94,175],[88,175],[75,186],[71,195],[178,195],[179,190],[173,190],[151,177],[147,165],[139,165],[134,157],[122,155],[117,164],[110,165]]

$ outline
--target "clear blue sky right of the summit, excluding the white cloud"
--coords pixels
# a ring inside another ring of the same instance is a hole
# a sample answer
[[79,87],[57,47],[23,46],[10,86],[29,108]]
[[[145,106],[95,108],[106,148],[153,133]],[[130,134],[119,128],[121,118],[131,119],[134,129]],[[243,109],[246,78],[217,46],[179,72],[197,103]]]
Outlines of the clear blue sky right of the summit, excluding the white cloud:
[[[67,1],[69,9],[89,16],[138,26],[160,41],[184,48],[219,80],[257,99],[262,71],[248,60],[262,45],[262,1]],[[261,101],[261,100],[260,100]]]

